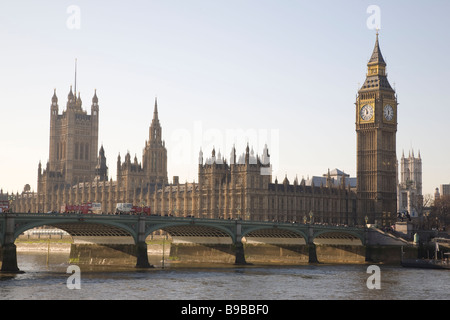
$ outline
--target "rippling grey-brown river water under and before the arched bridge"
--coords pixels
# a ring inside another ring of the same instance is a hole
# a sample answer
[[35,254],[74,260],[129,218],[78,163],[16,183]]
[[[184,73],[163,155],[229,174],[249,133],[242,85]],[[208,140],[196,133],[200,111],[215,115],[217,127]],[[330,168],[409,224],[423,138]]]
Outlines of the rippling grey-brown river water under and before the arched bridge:
[[2,300],[449,300],[448,270],[379,265],[181,265],[149,256],[155,268],[81,267],[80,289],[67,285],[68,253],[18,253],[24,273],[0,274]]

